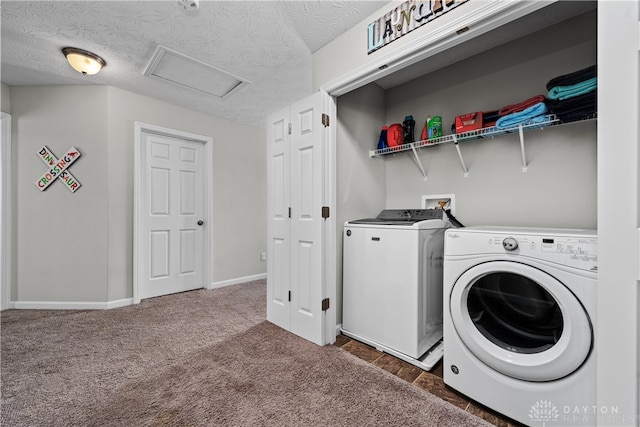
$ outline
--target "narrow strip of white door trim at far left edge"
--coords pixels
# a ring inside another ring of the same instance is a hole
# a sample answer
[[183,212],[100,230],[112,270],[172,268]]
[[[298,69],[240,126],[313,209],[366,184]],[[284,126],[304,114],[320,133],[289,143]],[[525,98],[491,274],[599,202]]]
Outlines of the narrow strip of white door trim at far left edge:
[[0,149],[0,310],[11,308],[11,115],[2,113]]

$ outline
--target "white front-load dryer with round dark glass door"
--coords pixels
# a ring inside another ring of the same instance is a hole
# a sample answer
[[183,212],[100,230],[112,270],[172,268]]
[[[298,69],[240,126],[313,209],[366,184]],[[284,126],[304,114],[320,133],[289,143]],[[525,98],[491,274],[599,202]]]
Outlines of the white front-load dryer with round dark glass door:
[[593,230],[448,230],[444,382],[526,425],[596,425],[597,261]]

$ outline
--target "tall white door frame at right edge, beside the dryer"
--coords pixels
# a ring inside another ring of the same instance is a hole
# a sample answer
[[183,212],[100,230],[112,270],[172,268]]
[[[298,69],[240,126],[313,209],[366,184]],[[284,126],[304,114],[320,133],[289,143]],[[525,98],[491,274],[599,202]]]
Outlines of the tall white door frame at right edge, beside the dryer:
[[598,2],[597,407],[618,411],[604,425],[640,425],[639,14]]

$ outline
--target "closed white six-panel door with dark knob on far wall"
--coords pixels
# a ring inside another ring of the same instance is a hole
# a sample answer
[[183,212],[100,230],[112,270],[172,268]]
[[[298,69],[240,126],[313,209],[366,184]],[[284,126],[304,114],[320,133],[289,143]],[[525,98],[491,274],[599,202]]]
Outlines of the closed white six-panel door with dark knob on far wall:
[[143,130],[139,149],[139,297],[202,288],[205,146]]

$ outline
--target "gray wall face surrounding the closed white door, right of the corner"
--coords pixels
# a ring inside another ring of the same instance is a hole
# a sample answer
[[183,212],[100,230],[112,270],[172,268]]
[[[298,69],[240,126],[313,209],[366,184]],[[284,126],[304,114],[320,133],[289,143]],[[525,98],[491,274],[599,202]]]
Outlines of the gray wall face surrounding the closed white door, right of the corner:
[[[140,121],[213,138],[214,282],[266,273],[266,143],[262,128],[234,123],[109,88],[110,299],[132,277],[133,124]],[[126,167],[122,167],[122,161]],[[111,291],[113,289],[114,291]],[[119,289],[119,290],[117,290]],[[116,291],[117,290],[117,291]]]

